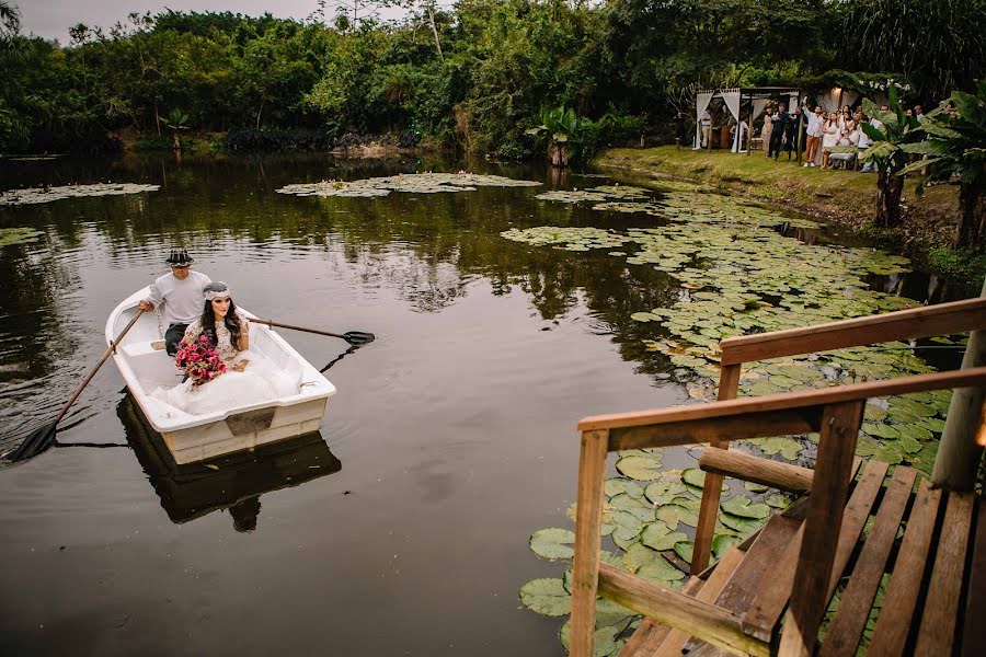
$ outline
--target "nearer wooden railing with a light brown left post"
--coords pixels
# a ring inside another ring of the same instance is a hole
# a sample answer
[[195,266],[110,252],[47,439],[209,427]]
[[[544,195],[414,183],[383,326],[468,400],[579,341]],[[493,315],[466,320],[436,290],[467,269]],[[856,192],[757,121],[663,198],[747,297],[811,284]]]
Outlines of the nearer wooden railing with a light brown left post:
[[[812,496],[780,646],[781,654],[809,655],[827,606],[818,591],[826,589],[830,577],[863,405],[872,397],[964,387],[986,387],[986,367],[580,422],[571,654],[592,655],[598,592],[714,645],[752,655],[770,652],[769,641],[747,632],[737,616],[693,599],[686,603],[683,593],[599,563],[608,452],[818,431]],[[704,489],[710,489],[709,474]]]

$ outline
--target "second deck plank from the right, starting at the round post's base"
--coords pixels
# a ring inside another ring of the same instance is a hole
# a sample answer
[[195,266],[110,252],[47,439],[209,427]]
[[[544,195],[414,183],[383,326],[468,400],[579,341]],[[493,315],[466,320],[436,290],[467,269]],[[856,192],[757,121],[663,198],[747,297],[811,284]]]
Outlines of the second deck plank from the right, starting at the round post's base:
[[935,569],[931,572],[914,650],[916,657],[952,654],[974,502],[975,495],[972,493],[949,493],[938,552],[935,555]]

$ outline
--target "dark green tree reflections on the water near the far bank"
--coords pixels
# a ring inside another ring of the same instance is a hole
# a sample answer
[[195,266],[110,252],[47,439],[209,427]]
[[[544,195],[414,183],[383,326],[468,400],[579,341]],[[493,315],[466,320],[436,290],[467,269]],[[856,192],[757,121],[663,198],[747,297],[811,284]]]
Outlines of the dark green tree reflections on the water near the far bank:
[[[286,184],[324,178],[369,177],[401,171],[449,170],[437,162],[343,161],[317,158],[185,159],[181,164],[149,158],[85,163],[77,172],[58,162],[51,180],[126,180],[162,184],[149,195],[78,199],[19,208],[22,224],[47,226],[49,240],[78,249],[84,233],[105,238],[106,257],[126,269],[181,243],[206,255],[223,250],[251,262],[280,257],[285,251],[319,253],[333,276],[354,285],[392,290],[420,312],[437,312],[468,293],[475,277],[491,281],[494,293],[524,291],[546,320],[569,313],[584,299],[593,315],[612,332],[623,358],[647,372],[666,367],[644,350],[642,339],[655,326],[630,319],[633,312],[677,300],[674,279],[649,266],[629,266],[605,253],[569,253],[504,240],[500,232],[547,223],[558,226],[656,224],[651,217],[596,212],[586,207],[540,201],[537,189],[481,187],[446,194],[392,193],[381,198],[319,198],[276,194]],[[480,164],[473,171],[543,180],[544,171],[509,171]],[[576,176],[577,177],[577,176]],[[580,183],[572,177],[572,184]],[[597,183],[598,181],[593,181]],[[585,180],[581,183],[586,184]],[[549,185],[550,181],[549,181]],[[3,220],[3,212],[0,212]],[[236,250],[229,250],[230,244]],[[153,254],[150,256],[149,254]],[[19,252],[4,258],[13,292],[59,287],[70,267],[49,252],[44,267],[23,268]],[[57,293],[39,304],[51,304]],[[0,298],[2,299],[2,298]],[[2,300],[0,300],[2,302]],[[12,301],[7,301],[10,306]],[[23,300],[20,310],[23,313]],[[38,359],[38,374],[50,360]]]

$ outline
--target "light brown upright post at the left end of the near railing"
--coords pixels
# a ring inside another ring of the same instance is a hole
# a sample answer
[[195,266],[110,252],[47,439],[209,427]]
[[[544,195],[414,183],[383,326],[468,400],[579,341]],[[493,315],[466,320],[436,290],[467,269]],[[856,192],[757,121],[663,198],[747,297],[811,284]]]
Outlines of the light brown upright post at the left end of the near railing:
[[596,588],[599,572],[599,532],[603,526],[603,482],[606,476],[606,431],[582,435],[578,493],[575,507],[575,561],[572,566],[570,653],[592,657],[596,630]]

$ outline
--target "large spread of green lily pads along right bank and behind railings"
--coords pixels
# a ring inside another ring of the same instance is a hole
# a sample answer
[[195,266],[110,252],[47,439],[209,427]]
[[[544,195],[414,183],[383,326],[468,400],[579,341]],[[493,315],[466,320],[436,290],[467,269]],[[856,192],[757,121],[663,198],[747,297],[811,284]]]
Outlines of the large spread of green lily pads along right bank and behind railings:
[[[661,197],[641,188],[623,188],[626,196],[600,200],[607,188],[586,189],[582,197],[549,196],[553,200],[588,200],[597,209],[639,211],[661,217],[663,224],[624,231],[604,228],[538,227],[512,229],[502,237],[531,245],[566,251],[607,250],[630,266],[653,267],[679,283],[677,301],[668,308],[640,309],[631,319],[653,325],[645,339],[676,368],[689,397],[715,397],[722,339],[899,310],[918,302],[871,289],[871,275],[908,272],[906,258],[871,249],[810,245],[779,232],[778,227],[813,228],[803,219],[713,194],[670,191]],[[611,188],[608,188],[611,189]],[[544,195],[542,195],[544,197]],[[618,247],[618,251],[610,251]],[[936,338],[959,346],[963,339]],[[740,395],[765,395],[886,379],[932,371],[917,357],[914,345],[891,343],[799,357],[746,364]],[[857,443],[857,454],[892,464],[907,463],[930,474],[944,427],[950,391],[926,392],[888,400],[871,400]],[[753,439],[735,449],[772,459],[811,464],[815,434]],[[616,551],[603,558],[618,567],[676,586],[691,558],[691,538],[698,519],[702,472],[662,470],[661,450],[621,452],[619,476],[606,482],[603,535]],[[715,528],[713,557],[759,529],[772,509],[788,498],[753,484],[727,480]],[[572,519],[574,515],[570,512]],[[571,557],[574,534],[553,528],[535,532],[531,550],[546,558]],[[521,588],[521,602],[547,615],[567,613],[567,575],[537,579]],[[550,603],[549,603],[550,602]],[[597,655],[619,652],[634,626],[630,610],[600,601]],[[564,629],[562,639],[564,641]]]

